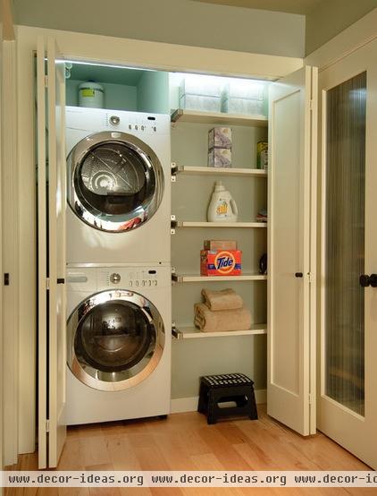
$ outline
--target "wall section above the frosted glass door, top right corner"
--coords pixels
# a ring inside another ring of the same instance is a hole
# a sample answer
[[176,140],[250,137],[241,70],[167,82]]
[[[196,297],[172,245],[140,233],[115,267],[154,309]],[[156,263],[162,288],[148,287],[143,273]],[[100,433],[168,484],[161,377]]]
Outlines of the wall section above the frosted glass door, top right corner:
[[306,16],[306,56],[377,7],[377,0],[323,0]]

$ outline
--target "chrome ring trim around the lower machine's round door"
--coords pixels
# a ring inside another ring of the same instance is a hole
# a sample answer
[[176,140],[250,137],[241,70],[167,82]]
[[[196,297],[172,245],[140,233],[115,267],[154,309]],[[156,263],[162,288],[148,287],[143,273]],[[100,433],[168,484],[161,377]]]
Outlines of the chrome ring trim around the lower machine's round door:
[[[83,366],[79,362],[74,348],[75,336],[80,322],[86,317],[88,312],[98,305],[108,302],[130,302],[138,306],[141,312],[147,317],[151,327],[155,332],[155,340],[147,350],[146,355],[127,371],[103,372],[89,365]],[[163,318],[147,298],[133,291],[126,290],[106,290],[90,295],[82,301],[71,312],[67,321],[67,364],[73,375],[79,381],[93,389],[103,391],[117,391],[136,386],[144,381],[155,370],[163,355],[165,340],[165,330]]]

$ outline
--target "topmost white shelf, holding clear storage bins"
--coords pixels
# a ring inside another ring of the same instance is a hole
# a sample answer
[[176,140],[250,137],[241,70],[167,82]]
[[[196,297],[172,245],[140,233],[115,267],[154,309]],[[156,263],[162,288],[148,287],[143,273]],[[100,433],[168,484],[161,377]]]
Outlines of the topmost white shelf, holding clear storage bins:
[[171,115],[172,123],[177,121],[198,124],[246,125],[249,127],[267,127],[268,119],[264,115],[225,114],[222,112],[203,112],[177,108]]

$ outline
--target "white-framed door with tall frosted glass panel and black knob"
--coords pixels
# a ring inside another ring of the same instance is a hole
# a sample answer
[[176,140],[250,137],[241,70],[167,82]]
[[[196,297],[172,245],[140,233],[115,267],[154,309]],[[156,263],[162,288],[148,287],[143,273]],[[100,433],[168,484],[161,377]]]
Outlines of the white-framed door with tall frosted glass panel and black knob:
[[377,41],[320,74],[318,428],[377,468]]

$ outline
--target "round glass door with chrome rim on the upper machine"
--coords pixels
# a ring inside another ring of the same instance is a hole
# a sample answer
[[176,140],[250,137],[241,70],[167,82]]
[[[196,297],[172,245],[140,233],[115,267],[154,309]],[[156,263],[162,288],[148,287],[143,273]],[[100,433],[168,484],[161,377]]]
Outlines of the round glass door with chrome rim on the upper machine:
[[101,231],[141,226],[163,199],[163,167],[131,134],[96,133],[81,140],[67,158],[67,173],[71,209]]

